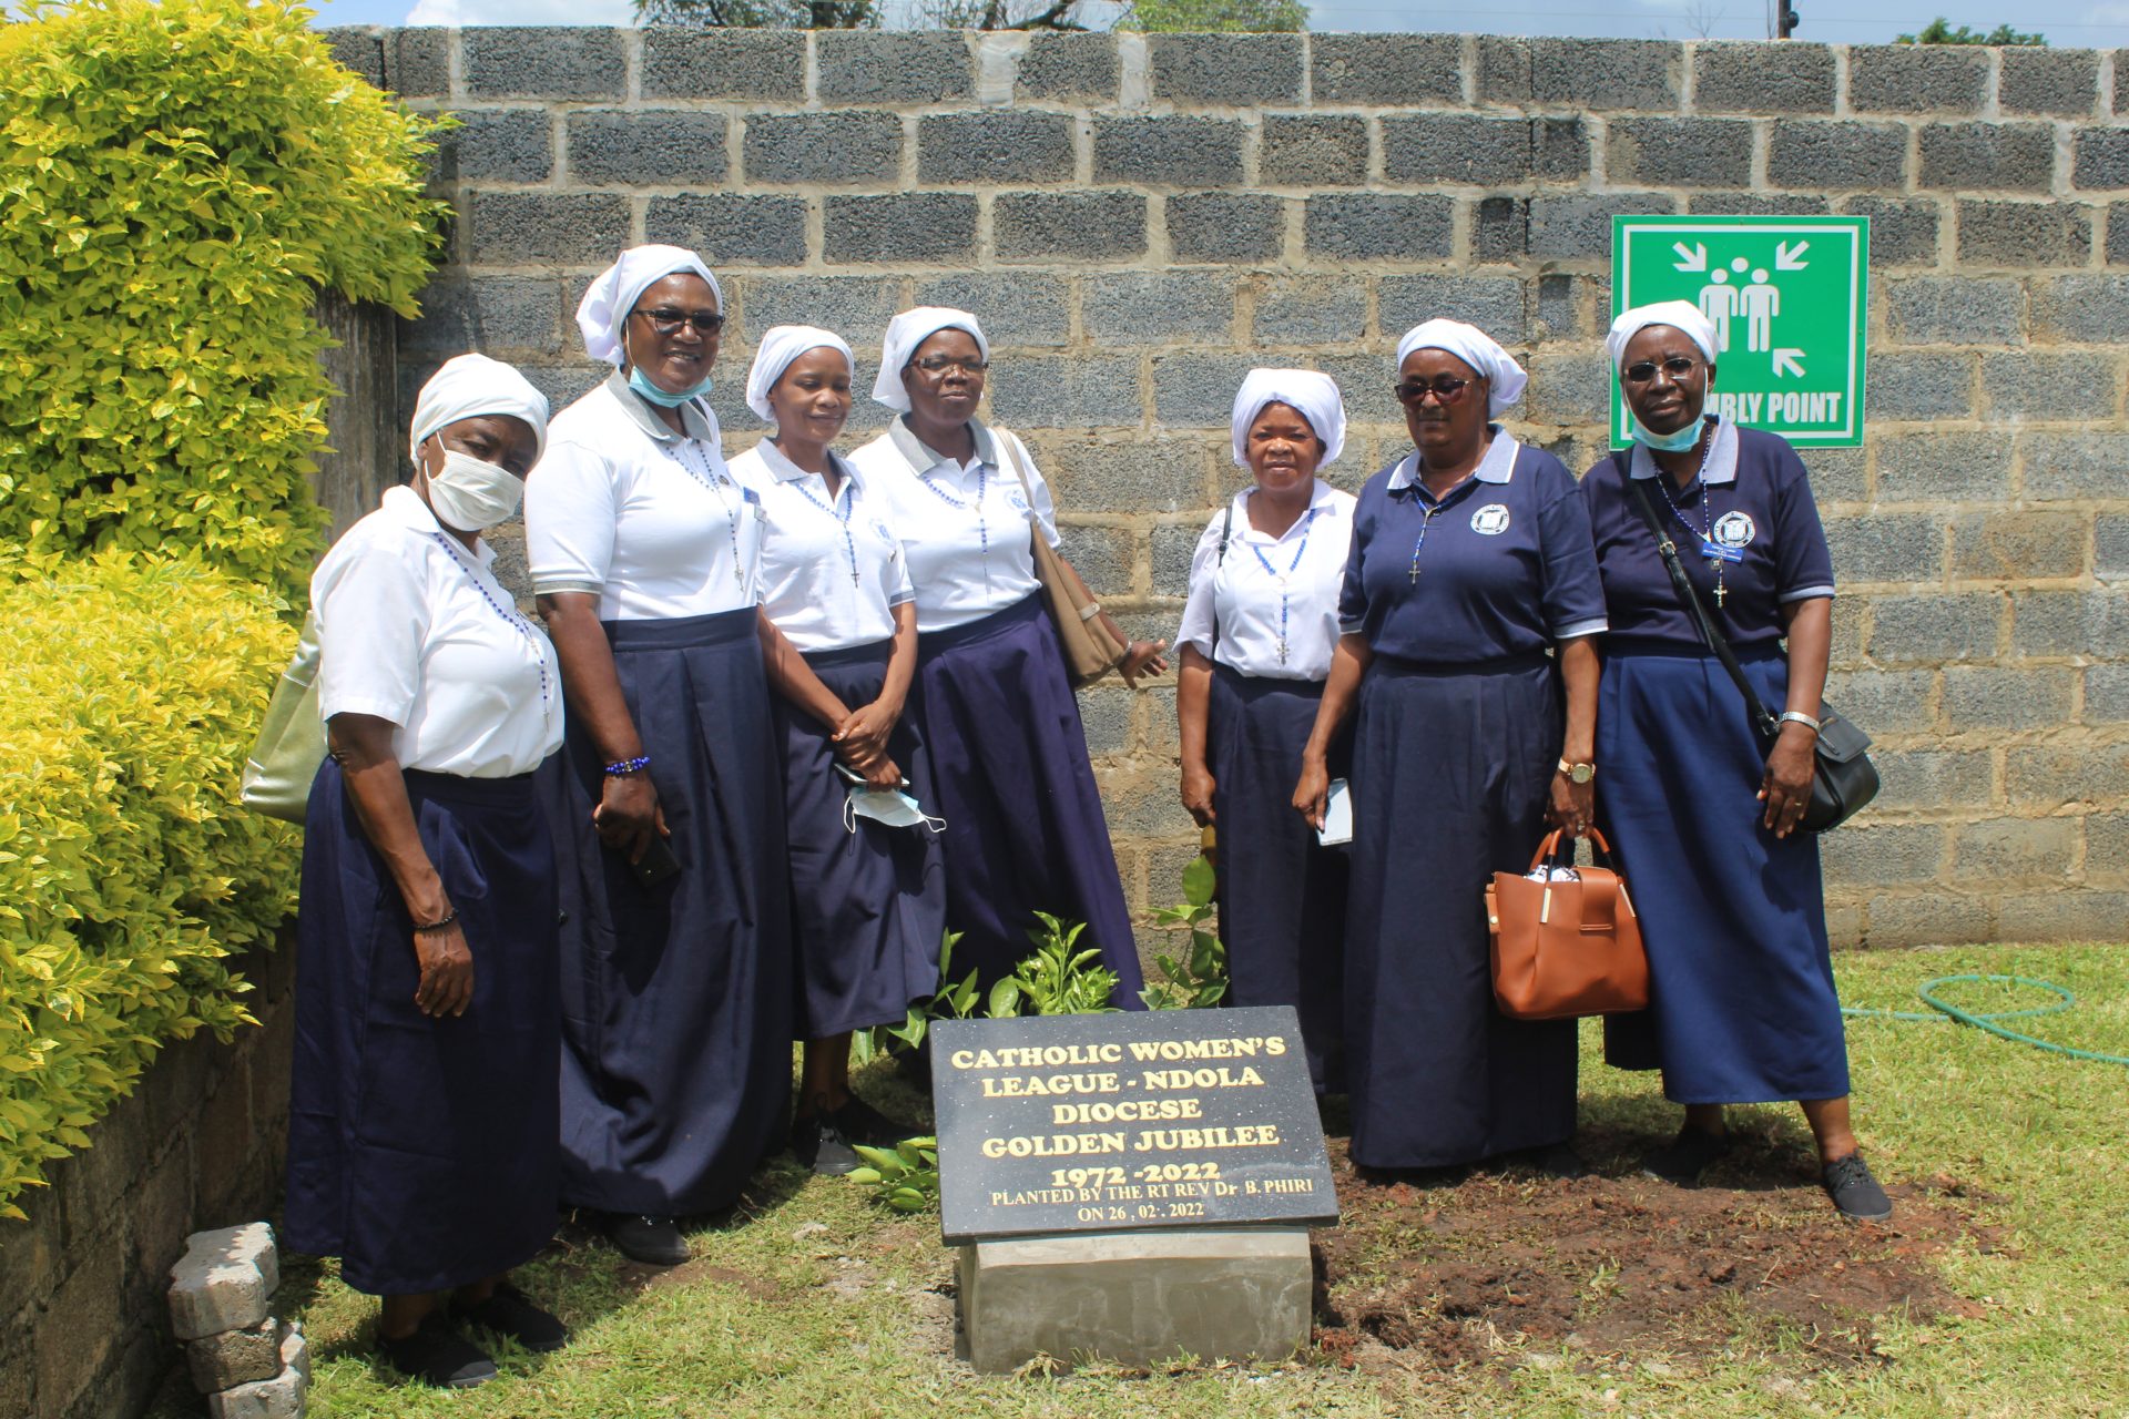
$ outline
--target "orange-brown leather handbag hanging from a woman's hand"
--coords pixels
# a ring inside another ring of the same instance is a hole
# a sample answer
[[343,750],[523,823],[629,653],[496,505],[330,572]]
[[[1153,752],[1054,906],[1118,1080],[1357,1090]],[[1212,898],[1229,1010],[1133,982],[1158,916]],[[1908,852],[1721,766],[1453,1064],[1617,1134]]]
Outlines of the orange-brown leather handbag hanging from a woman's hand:
[[[1612,857],[1590,832],[1597,855]],[[1531,877],[1495,872],[1486,887],[1492,998],[1509,1019],[1573,1019],[1648,1008],[1648,955],[1627,883],[1605,866],[1554,879],[1561,834],[1531,857]],[[1569,845],[1571,857],[1571,845]]]

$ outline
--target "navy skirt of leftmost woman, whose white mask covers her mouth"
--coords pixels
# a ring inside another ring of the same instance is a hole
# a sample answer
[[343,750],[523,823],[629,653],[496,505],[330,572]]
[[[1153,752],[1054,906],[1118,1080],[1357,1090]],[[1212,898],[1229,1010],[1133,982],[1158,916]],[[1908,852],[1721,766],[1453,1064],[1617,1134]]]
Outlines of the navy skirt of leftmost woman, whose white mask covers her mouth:
[[473,1006],[415,1006],[413,919],[332,759],[296,919],[283,1238],[373,1296],[530,1259],[562,1191],[554,853],[532,777],[407,772],[407,798],[473,951]]

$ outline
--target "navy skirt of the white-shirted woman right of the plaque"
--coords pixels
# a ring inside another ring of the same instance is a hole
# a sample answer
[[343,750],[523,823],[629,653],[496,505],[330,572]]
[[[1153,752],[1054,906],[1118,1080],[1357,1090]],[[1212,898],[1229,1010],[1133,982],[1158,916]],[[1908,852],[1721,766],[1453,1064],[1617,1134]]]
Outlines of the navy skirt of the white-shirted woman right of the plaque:
[[[1301,749],[1322,681],[1275,681],[1214,666],[1207,706],[1211,811],[1220,834],[1224,1004],[1290,1004],[1318,1094],[1346,1089],[1346,851],[1322,847],[1294,813]],[[1348,740],[1331,777],[1348,774]]]

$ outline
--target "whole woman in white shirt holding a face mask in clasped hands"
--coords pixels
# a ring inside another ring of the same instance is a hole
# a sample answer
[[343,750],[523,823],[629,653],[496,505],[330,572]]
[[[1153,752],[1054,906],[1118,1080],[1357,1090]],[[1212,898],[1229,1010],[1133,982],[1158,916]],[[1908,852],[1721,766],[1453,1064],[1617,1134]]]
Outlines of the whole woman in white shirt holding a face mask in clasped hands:
[[[849,1089],[849,1036],[898,1025],[939,985],[945,877],[915,725],[918,606],[884,496],[830,449],[849,417],[849,345],[775,325],[747,372],[747,406],[775,434],[732,460],[769,513],[762,611],[835,696],[830,715],[779,700],[792,934],[805,1074],[792,1153],[813,1172],[858,1166],[852,1142],[924,1132]],[[862,772],[854,759],[869,759]],[[860,779],[852,783],[852,777]]]

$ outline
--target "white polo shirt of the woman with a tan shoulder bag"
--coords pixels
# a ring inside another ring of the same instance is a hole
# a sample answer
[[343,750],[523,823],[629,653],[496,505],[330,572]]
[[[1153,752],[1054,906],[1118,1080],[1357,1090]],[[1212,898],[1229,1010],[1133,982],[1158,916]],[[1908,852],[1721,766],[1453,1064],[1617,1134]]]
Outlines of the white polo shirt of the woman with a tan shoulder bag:
[[[1041,583],[1028,528],[1039,525],[1058,545],[1050,483],[1026,445],[975,419],[969,430],[975,457],[967,464],[926,449],[901,419],[849,455],[867,489],[886,500],[888,523],[903,538],[918,632],[964,625],[1030,596]],[[1020,455],[1026,491],[1013,464],[999,462],[1001,443]]]

